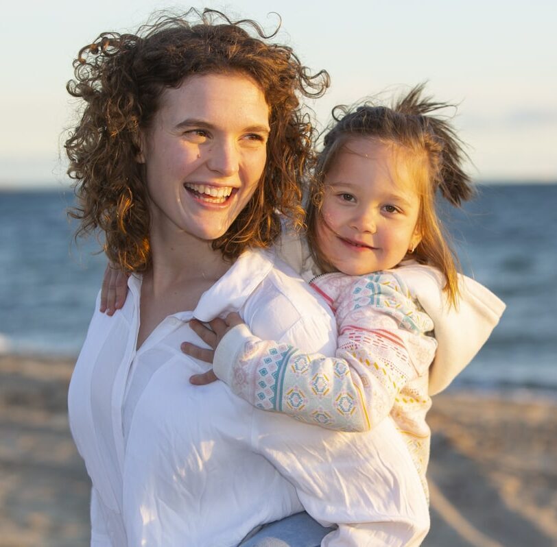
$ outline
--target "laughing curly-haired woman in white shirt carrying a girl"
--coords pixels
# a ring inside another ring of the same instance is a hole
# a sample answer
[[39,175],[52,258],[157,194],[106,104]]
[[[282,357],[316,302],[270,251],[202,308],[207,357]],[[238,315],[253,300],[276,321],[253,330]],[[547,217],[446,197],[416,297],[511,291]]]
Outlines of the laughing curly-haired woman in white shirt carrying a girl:
[[[427,504],[392,421],[331,433],[257,411],[222,382],[189,384],[206,369],[180,352],[199,343],[193,317],[239,310],[260,337],[335,347],[331,315],[267,250],[276,210],[296,218],[311,160],[298,95],[323,93],[327,75],[309,75],[254,23],[213,15],[104,34],[69,84],[85,101],[66,143],[74,214],[134,274],[121,311],[93,315],[69,391],[92,544],[235,546],[304,508],[337,528],[312,523],[308,539],[304,522],[292,546],[327,533],[322,545],[419,544]],[[399,496],[382,496],[393,483]]]

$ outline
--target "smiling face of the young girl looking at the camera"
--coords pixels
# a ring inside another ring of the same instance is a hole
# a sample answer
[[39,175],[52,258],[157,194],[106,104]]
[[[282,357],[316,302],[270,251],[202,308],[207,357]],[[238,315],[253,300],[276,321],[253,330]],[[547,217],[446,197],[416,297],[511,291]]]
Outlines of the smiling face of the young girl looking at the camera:
[[399,147],[357,137],[324,179],[316,226],[320,252],[350,276],[395,267],[420,242],[414,162]]

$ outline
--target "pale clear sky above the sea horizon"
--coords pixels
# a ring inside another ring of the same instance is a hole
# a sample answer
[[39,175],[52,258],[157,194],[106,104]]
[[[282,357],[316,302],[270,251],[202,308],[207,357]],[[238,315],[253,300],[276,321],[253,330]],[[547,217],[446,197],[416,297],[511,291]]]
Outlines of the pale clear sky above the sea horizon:
[[310,104],[321,125],[335,104],[388,100],[420,82],[458,104],[454,123],[479,181],[557,181],[557,2],[530,0],[50,0],[10,5],[0,21],[0,189],[67,186],[65,90],[72,61],[100,32],[134,32],[154,10],[189,7],[282,23],[285,43],[331,88]]

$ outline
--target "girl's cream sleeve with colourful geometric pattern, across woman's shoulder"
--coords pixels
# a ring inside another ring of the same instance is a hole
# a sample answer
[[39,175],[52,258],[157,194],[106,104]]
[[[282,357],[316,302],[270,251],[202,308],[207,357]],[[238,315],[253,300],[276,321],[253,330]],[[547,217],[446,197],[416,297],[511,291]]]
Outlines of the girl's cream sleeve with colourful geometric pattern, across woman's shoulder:
[[372,428],[407,382],[427,374],[433,324],[392,273],[357,278],[339,304],[335,357],[263,341],[243,326],[219,346],[217,376],[259,409],[334,430]]

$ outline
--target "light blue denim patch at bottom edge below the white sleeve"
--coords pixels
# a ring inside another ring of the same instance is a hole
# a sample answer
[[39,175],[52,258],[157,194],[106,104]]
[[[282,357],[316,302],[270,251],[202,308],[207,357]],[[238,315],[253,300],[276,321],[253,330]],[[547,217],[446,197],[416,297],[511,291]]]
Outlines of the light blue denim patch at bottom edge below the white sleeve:
[[265,524],[239,547],[319,547],[334,528],[324,528],[307,513],[296,513]]

